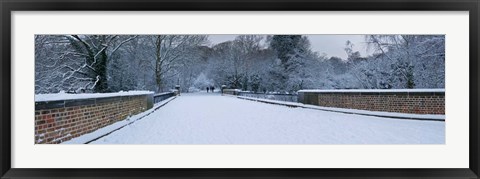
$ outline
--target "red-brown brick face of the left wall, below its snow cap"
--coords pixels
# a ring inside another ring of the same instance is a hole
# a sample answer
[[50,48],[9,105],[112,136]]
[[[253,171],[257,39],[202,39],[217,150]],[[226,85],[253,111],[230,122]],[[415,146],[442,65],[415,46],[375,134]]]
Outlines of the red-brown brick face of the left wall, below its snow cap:
[[147,95],[35,103],[35,144],[58,144],[147,110]]

